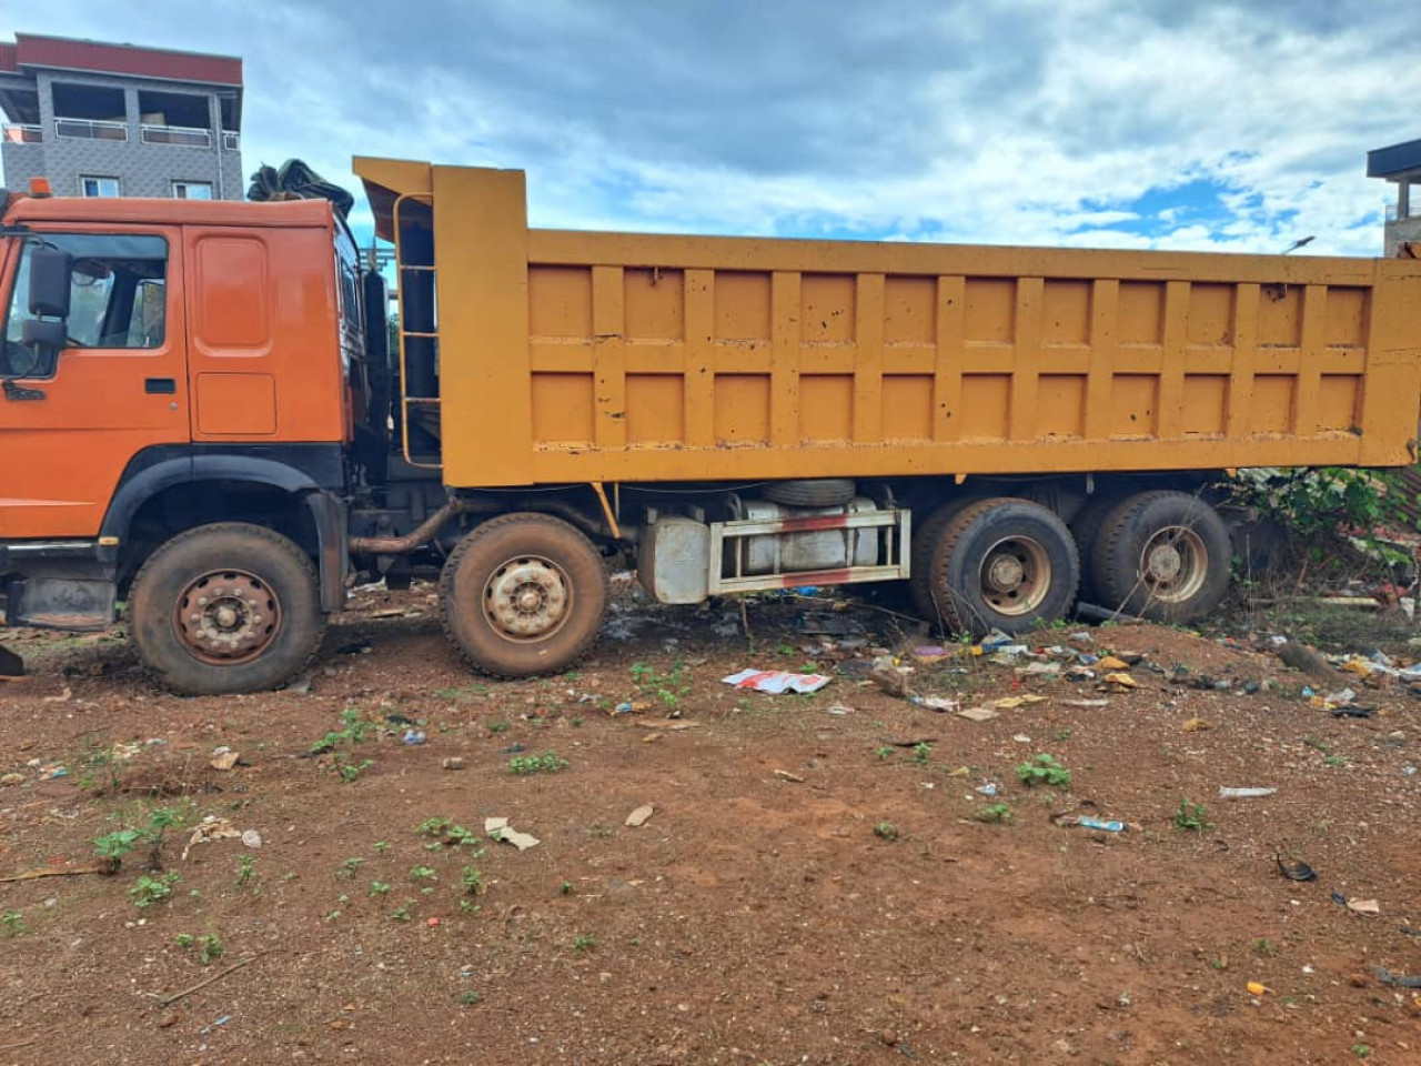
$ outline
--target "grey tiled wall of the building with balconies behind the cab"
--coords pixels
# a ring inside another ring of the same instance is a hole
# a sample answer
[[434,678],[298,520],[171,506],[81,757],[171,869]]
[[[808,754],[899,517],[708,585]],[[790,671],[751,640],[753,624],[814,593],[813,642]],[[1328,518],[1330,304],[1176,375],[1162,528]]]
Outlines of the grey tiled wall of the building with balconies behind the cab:
[[[55,81],[102,85],[124,91],[126,141],[101,141],[95,138],[61,138],[54,132]],[[222,148],[220,109],[215,92],[196,92],[207,97],[209,128],[213,132],[212,148],[188,145],[144,144],[139,129],[138,92],[183,91],[180,85],[165,81],[144,81],[139,78],[112,78],[95,74],[50,74],[40,72],[40,125],[44,141],[40,144],[6,142],[0,151],[4,163],[4,181],[10,188],[24,188],[31,176],[50,179],[60,196],[78,196],[81,176],[118,178],[124,196],[173,195],[173,181],[212,182],[213,196],[239,200],[244,188],[242,152]]]

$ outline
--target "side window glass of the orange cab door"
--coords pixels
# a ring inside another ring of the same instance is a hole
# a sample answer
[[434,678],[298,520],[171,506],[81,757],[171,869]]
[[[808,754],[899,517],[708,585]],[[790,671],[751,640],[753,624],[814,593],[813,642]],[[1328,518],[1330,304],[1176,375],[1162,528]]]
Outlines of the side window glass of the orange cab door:
[[[166,318],[168,242],[129,235],[45,233],[27,237],[6,313],[0,372],[33,372],[34,354],[21,344],[28,306],[30,252],[40,243],[74,259],[70,283],[68,348],[158,348]],[[26,370],[30,367],[30,370]],[[48,368],[53,374],[53,367]]]

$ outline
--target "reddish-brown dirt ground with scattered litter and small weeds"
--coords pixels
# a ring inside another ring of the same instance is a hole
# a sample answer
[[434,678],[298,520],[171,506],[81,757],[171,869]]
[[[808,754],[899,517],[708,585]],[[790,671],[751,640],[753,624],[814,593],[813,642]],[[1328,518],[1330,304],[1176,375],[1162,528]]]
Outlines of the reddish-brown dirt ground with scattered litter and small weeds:
[[[915,661],[929,641],[881,611],[827,611],[863,648],[796,628],[826,607],[750,604],[752,650],[733,604],[624,597],[583,668],[489,682],[428,587],[374,590],[307,691],[210,699],[152,687],[121,634],[0,632],[33,668],[0,685],[0,876],[179,823],[162,871],[138,837],[115,876],[0,883],[0,1063],[1421,1063],[1421,998],[1378,979],[1421,974],[1404,687],[1309,681],[1266,632],[1069,627],[1040,659]],[[914,705],[874,645],[911,694],[1044,699]],[[1138,688],[1017,672],[1077,651],[1142,655]],[[810,664],[833,681],[807,696],[720,682]],[[1017,777],[1039,753],[1069,786]],[[1182,802],[1206,810],[1181,827]],[[183,857],[207,816],[260,847]]]

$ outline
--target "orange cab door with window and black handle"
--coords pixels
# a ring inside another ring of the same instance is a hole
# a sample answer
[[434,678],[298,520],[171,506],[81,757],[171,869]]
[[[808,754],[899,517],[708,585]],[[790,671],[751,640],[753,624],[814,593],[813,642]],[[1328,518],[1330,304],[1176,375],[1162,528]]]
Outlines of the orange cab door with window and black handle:
[[[72,259],[65,344],[21,344],[30,253]],[[152,445],[186,443],[182,242],[175,227],[17,237],[0,351],[0,539],[94,537],[124,468]]]

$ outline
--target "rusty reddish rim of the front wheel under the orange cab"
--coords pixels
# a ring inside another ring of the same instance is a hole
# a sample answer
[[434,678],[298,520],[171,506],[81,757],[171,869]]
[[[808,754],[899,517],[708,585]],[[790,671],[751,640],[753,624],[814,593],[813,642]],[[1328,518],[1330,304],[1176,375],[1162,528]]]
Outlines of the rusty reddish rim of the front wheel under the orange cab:
[[193,578],[178,597],[173,627],[198,659],[222,667],[249,662],[281,630],[281,600],[256,574],[213,570]]

